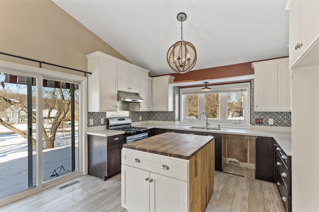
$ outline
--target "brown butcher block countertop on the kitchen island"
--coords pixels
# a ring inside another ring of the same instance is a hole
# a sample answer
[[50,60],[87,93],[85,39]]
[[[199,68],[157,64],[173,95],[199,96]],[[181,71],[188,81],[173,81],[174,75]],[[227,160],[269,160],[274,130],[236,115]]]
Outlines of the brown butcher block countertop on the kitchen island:
[[214,137],[165,132],[123,145],[123,148],[189,160]]

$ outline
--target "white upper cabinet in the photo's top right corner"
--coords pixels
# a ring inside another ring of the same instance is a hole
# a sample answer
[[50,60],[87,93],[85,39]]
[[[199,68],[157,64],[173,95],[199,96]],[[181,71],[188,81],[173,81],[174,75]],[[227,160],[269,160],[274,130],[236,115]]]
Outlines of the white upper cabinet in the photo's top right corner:
[[319,0],[288,0],[289,66],[316,66],[319,60]]

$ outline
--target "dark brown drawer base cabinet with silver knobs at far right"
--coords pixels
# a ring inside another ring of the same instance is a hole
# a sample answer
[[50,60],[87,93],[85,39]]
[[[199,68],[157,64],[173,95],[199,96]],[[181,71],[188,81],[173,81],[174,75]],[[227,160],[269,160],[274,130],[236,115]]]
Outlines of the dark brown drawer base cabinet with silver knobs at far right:
[[287,212],[292,209],[291,192],[291,156],[287,156],[280,146],[275,142],[275,178],[281,196],[281,200]]

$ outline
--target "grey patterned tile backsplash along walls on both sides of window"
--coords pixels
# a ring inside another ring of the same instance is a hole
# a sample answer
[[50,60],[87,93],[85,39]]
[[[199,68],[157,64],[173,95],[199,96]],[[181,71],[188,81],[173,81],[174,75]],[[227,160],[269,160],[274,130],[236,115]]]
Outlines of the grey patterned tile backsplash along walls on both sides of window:
[[[88,112],[88,127],[106,125],[106,118],[130,116],[133,122],[155,120],[155,121],[179,121],[179,87],[173,89],[173,111],[126,111],[128,104],[119,103],[117,112]],[[104,123],[101,124],[101,118],[104,118]],[[262,118],[262,124],[256,124],[256,118]],[[269,125],[268,119],[274,119],[274,124]],[[90,125],[90,119],[93,119],[93,125]],[[255,112],[254,111],[254,80],[251,81],[251,124],[262,126],[285,126],[291,127],[291,112]]]

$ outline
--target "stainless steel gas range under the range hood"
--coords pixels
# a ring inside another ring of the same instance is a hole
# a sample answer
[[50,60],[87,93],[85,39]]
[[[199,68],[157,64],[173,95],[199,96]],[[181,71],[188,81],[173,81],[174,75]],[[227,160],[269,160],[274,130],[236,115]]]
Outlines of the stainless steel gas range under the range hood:
[[106,126],[107,129],[125,131],[127,143],[149,137],[148,128],[132,126],[131,117],[107,118]]

